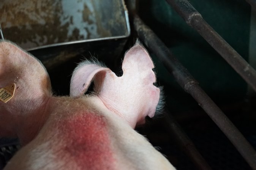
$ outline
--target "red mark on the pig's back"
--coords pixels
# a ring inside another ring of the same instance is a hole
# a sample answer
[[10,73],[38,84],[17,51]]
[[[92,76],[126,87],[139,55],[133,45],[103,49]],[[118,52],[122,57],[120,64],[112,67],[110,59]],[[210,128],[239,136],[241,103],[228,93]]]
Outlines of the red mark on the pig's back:
[[[85,113],[58,124],[64,136],[64,154],[81,169],[115,169],[109,133],[103,116]],[[67,162],[68,163],[68,162]]]

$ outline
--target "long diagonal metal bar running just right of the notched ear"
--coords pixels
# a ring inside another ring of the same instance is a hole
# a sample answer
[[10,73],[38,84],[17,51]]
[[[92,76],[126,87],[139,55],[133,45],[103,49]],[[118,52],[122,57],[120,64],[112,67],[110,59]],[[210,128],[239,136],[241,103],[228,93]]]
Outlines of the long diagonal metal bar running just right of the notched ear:
[[168,71],[174,76],[179,85],[189,93],[204,111],[211,117],[216,125],[223,131],[232,144],[237,148],[248,164],[256,170],[256,152],[242,133],[232,124],[228,117],[210,99],[210,97],[198,85],[198,82],[190,75],[186,68],[172,55],[171,51],[146,26],[142,20],[134,15],[134,28],[145,45],[156,54]]

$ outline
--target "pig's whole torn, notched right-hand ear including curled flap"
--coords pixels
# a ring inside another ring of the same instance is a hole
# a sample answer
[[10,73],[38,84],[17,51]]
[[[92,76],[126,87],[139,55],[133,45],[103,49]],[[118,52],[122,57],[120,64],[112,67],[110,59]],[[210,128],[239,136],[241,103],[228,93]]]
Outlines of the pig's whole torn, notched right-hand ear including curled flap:
[[97,62],[82,62],[71,78],[71,97],[81,97],[90,83],[94,83],[94,94],[109,111],[125,119],[131,127],[143,124],[145,117],[153,117],[160,98],[153,62],[139,43],[126,52],[123,59],[123,75],[118,77],[109,68]]

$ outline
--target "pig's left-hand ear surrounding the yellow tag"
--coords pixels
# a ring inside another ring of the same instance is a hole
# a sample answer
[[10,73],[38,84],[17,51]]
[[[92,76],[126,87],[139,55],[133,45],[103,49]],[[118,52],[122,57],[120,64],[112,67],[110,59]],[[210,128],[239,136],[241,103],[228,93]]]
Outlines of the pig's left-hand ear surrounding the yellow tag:
[[50,79],[38,60],[13,43],[2,40],[0,88],[12,83],[16,84],[13,98],[6,103],[0,101],[0,136],[16,136],[17,131],[21,135],[34,136],[45,117],[41,114],[34,119],[33,114],[42,110],[51,96]]

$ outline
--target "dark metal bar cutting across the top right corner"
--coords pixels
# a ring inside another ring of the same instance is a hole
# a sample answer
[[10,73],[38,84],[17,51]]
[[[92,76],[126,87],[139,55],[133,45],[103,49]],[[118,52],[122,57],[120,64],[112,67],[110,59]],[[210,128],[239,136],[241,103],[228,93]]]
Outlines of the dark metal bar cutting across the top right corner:
[[202,18],[187,0],[166,0],[256,91],[256,71]]

